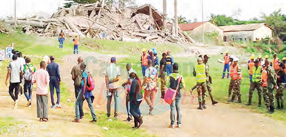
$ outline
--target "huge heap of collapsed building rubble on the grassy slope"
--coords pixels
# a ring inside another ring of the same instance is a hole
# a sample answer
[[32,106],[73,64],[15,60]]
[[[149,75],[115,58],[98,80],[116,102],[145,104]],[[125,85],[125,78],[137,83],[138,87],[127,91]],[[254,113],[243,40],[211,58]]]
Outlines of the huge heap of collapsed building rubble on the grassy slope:
[[[5,21],[14,24],[13,18]],[[49,19],[18,18],[17,24],[23,32],[45,37],[58,36],[61,29],[66,36],[132,42],[195,43],[183,31],[172,35],[173,27],[163,29],[163,17],[152,5],[119,10],[114,5],[101,2],[78,4],[60,8]]]

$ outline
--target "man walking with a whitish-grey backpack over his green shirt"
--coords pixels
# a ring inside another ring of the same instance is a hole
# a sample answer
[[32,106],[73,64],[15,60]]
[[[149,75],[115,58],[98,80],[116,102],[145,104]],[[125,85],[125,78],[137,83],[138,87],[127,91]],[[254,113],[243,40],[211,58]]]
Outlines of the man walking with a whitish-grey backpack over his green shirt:
[[[31,108],[32,105],[32,75],[36,72],[36,68],[31,64],[31,59],[26,58],[26,64],[24,65],[24,94],[27,98],[27,106]],[[29,91],[29,94],[27,93]]]

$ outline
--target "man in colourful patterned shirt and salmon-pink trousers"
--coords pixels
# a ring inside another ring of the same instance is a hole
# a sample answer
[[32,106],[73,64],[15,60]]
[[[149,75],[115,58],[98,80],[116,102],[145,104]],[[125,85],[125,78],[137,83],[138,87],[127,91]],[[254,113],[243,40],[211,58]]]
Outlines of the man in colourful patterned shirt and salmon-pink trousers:
[[148,68],[145,71],[144,81],[142,83],[142,89],[144,92],[144,99],[149,105],[149,114],[152,114],[154,109],[154,102],[157,94],[157,80],[158,72],[155,67],[153,67],[153,61],[148,61]]

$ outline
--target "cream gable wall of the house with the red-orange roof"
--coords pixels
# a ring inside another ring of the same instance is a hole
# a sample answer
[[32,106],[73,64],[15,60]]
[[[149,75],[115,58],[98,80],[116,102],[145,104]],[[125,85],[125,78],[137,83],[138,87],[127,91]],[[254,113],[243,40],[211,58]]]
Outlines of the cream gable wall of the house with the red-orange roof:
[[204,33],[217,31],[220,34],[221,40],[223,38],[223,29],[215,26],[214,24],[210,22],[206,22],[203,25],[200,25],[199,27],[196,27],[195,29],[191,31],[185,31],[185,32],[188,32],[192,38],[196,39],[196,38],[202,37],[202,29]]

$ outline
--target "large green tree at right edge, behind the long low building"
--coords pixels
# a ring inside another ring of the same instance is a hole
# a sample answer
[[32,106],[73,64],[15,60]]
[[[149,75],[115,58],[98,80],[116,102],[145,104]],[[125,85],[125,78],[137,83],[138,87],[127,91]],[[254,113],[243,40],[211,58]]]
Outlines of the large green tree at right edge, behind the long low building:
[[282,41],[286,40],[286,15],[281,13],[281,9],[274,11],[269,16],[263,13],[262,18],[266,24],[275,29],[274,35]]

